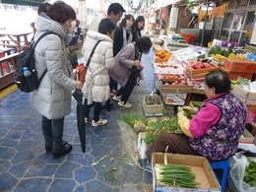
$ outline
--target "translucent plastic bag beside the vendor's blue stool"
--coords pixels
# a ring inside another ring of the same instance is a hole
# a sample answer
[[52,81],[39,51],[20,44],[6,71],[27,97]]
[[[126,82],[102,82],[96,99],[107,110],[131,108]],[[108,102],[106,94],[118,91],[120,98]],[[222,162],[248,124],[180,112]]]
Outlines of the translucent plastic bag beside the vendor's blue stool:
[[251,187],[243,181],[245,169],[249,165],[249,161],[240,153],[236,153],[233,159],[235,160],[235,163],[230,167],[227,177],[228,187],[231,191],[255,192],[256,187]]

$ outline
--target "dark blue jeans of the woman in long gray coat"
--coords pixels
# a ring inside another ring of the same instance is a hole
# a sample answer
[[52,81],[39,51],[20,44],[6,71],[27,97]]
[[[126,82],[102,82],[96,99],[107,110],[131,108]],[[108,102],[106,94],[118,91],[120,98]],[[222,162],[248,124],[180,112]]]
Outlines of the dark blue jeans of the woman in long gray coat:
[[62,148],[62,137],[64,129],[64,117],[60,119],[48,119],[42,116],[42,133],[46,147],[52,147],[52,152]]

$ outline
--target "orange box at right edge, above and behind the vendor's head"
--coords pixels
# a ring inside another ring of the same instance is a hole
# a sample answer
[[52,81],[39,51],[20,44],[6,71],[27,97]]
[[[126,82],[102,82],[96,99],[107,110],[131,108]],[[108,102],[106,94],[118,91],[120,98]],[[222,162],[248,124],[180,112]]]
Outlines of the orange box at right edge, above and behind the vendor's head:
[[230,72],[256,73],[256,62],[247,59],[224,58],[223,67]]

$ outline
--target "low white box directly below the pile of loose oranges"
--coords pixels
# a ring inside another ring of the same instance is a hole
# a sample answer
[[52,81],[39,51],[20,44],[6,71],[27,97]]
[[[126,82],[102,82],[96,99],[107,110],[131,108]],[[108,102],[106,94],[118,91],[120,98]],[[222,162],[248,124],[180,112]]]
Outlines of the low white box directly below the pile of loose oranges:
[[169,65],[169,64],[160,64],[154,63],[155,74],[184,74],[184,68],[181,65]]

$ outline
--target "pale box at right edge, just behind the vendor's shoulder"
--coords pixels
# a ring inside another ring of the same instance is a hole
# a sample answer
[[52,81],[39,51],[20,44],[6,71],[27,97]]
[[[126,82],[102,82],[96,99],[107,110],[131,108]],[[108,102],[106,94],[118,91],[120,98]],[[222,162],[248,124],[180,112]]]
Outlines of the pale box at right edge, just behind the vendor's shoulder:
[[240,85],[235,85],[232,91],[234,96],[237,96],[246,104],[256,105],[256,93],[250,93]]

